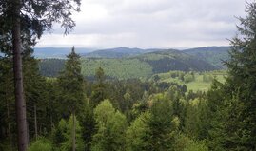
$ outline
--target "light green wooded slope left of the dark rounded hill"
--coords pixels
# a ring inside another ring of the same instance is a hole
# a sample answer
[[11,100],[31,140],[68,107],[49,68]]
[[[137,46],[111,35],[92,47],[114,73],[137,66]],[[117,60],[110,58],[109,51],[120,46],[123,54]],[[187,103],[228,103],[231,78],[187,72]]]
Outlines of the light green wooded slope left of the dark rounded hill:
[[112,78],[146,78],[152,75],[152,66],[136,58],[84,58],[82,59],[82,74],[92,77],[100,66],[105,74]]

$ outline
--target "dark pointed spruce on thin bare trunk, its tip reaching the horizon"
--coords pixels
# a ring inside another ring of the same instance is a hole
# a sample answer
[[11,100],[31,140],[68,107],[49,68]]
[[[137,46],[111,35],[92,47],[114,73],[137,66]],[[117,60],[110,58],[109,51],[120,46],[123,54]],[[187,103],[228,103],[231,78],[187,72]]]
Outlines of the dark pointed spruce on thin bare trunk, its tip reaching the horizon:
[[84,79],[81,74],[80,56],[75,53],[72,47],[71,53],[67,56],[68,60],[65,64],[64,71],[58,77],[64,113],[66,116],[72,113],[73,116],[73,132],[72,142],[75,150],[75,122],[74,117],[77,112],[84,106]]

